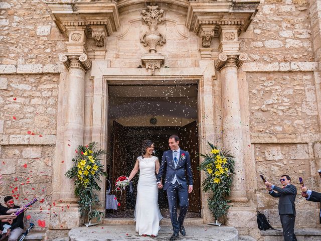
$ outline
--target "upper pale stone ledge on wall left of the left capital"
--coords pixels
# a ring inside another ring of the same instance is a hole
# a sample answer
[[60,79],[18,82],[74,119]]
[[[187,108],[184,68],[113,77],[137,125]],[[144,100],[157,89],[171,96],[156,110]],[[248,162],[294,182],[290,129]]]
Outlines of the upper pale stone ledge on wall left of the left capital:
[[59,64],[0,64],[0,74],[57,74],[65,71]]

